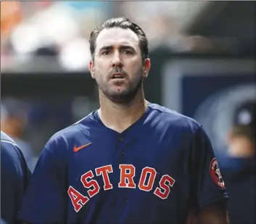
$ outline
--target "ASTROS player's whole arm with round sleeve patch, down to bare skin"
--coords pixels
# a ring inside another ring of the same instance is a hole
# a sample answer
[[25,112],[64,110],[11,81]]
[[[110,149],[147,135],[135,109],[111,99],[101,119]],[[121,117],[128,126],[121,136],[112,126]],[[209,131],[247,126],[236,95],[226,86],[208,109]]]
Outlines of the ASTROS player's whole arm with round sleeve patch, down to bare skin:
[[229,224],[228,194],[210,140],[197,130],[191,149],[191,201],[187,224]]

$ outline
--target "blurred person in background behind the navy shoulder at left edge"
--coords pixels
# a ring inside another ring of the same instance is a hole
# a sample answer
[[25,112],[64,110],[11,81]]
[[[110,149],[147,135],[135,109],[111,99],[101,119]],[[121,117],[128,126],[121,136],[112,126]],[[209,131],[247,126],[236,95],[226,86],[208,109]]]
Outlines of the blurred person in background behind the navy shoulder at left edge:
[[28,113],[22,101],[14,98],[1,99],[1,130],[7,133],[20,147],[30,170],[33,172],[37,158],[34,157],[30,144],[22,140],[27,124]]

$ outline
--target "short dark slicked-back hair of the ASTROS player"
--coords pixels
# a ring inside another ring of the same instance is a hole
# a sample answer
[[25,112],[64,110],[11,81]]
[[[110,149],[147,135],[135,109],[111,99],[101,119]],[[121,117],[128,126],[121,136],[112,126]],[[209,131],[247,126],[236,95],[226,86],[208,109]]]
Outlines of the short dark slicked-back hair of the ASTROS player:
[[106,28],[123,28],[123,29],[130,29],[139,38],[139,48],[141,49],[141,57],[142,59],[149,58],[149,42],[146,38],[146,34],[144,31],[139,27],[139,25],[136,25],[135,23],[131,22],[125,17],[118,17],[118,18],[112,18],[110,20],[107,20],[102,23],[102,25],[94,28],[91,32],[90,36],[90,51],[91,51],[91,57],[94,59],[94,53],[96,49],[96,39],[99,36],[99,33],[102,32],[102,30]]

